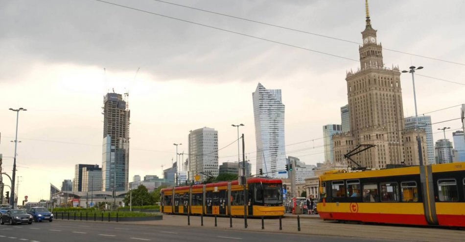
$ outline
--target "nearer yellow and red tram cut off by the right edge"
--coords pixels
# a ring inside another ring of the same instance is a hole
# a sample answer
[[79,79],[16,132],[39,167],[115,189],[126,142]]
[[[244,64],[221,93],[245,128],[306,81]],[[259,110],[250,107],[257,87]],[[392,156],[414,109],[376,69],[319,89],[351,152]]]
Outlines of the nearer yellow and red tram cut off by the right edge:
[[465,162],[320,176],[326,220],[465,227]]

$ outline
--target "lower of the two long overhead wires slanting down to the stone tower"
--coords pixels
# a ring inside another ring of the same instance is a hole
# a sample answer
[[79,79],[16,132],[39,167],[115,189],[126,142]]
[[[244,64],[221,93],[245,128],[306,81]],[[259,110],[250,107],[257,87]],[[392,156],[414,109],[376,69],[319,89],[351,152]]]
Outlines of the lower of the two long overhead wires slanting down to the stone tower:
[[[264,40],[264,41],[267,41],[267,42],[277,43],[277,44],[281,44],[281,45],[285,45],[285,46],[289,46],[289,47],[294,47],[294,48],[298,48],[298,49],[302,49],[302,50],[307,50],[307,51],[311,51],[311,52],[314,52],[314,53],[319,53],[319,54],[323,54],[323,55],[327,55],[327,56],[337,57],[337,58],[341,58],[341,59],[345,59],[345,60],[349,60],[349,61],[360,62],[359,60],[355,60],[355,59],[348,58],[348,57],[338,56],[338,55],[335,55],[335,54],[330,54],[330,53],[326,53],[326,52],[323,52],[323,51],[309,49],[309,48],[305,48],[305,47],[298,46],[298,45],[279,42],[279,41],[276,41],[276,40],[269,40],[269,39],[265,39],[265,38],[261,38],[261,37],[257,37],[257,36],[253,36],[253,35],[248,35],[248,34],[236,32],[236,31],[232,31],[232,30],[227,30],[227,29],[223,29],[223,28],[219,28],[219,27],[214,27],[214,26],[211,26],[211,25],[203,24],[203,23],[198,23],[198,22],[189,21],[189,20],[183,20],[183,19],[179,19],[179,18],[175,18],[175,17],[163,15],[163,14],[158,14],[158,13],[142,10],[142,9],[139,9],[139,8],[134,8],[134,7],[126,6],[126,5],[117,4],[117,3],[114,3],[114,2],[109,2],[109,1],[104,1],[104,0],[94,0],[94,1],[107,3],[107,4],[110,4],[110,5],[115,5],[115,6],[118,6],[118,7],[123,7],[123,8],[131,9],[131,10],[135,10],[135,11],[140,11],[140,12],[147,13],[147,14],[153,14],[153,15],[157,15],[157,16],[160,16],[160,17],[163,17],[163,18],[183,21],[183,22],[187,22],[187,23],[191,23],[191,24],[195,24],[195,25],[199,25],[199,26],[203,26],[203,27],[207,27],[207,28],[221,30],[221,31],[224,31],[224,32],[232,33],[232,34],[242,35],[242,36],[246,36],[246,37],[257,39],[257,40]],[[406,54],[408,54],[408,53],[406,53]],[[437,59],[437,60],[439,60],[439,59]],[[450,61],[448,61],[448,62],[450,62]],[[453,63],[455,63],[455,62],[453,62]],[[461,64],[461,63],[457,63],[457,64]],[[438,81],[447,81],[447,80],[439,79],[439,78],[433,78],[433,77],[429,77],[429,78],[436,79]],[[460,84],[460,85],[465,85],[465,83],[460,83],[460,82],[455,82],[455,81],[447,81],[447,82],[456,83],[456,84]]]

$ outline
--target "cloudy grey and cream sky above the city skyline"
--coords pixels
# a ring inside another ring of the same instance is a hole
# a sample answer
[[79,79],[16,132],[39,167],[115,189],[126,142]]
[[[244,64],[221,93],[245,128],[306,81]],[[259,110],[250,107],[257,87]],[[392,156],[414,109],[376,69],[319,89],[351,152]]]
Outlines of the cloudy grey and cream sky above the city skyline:
[[[156,0],[108,1],[358,59],[358,46],[350,42]],[[356,42],[365,26],[363,0],[167,1]],[[423,75],[465,83],[464,12],[460,0],[370,1],[372,26],[384,48],[459,64],[388,50],[384,63],[401,69],[422,65]],[[2,0],[0,29],[0,153],[10,172],[16,116],[8,108],[27,108],[20,113],[17,175],[19,196],[30,201],[47,199],[49,183],[61,186],[72,179],[74,164],[101,165],[101,107],[112,88],[130,93],[130,181],[136,174],[161,175],[162,165],[176,159],[172,143],[183,143],[179,151],[187,153],[188,131],[204,126],[218,130],[223,147],[236,139],[231,124],[244,123],[246,152],[255,163],[252,92],[258,82],[282,89],[287,155],[323,161],[323,149],[313,147],[323,143],[323,125],[341,122],[346,71],[359,66],[96,0]],[[402,75],[401,81],[407,117],[414,114],[411,77]],[[465,102],[464,85],[420,76],[416,81],[420,114]],[[456,119],[460,108],[430,115],[433,122]],[[461,123],[435,124],[433,130],[443,126],[458,129]],[[441,137],[435,134],[435,140]],[[292,145],[297,142],[302,143]],[[221,150],[220,163],[235,161],[236,152],[235,145]]]

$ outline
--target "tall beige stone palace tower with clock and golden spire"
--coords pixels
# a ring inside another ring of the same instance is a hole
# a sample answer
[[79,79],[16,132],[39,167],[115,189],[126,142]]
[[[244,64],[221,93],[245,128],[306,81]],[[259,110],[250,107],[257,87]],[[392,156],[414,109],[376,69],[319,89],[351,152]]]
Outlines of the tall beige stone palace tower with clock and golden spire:
[[423,161],[427,161],[424,131],[404,129],[399,68],[384,66],[382,46],[372,28],[368,3],[362,40],[358,50],[360,69],[349,71],[346,76],[350,131],[332,137],[334,162],[344,163],[344,154],[358,144],[374,144],[375,147],[352,159],[373,169],[388,164],[419,164],[417,136],[422,141]]

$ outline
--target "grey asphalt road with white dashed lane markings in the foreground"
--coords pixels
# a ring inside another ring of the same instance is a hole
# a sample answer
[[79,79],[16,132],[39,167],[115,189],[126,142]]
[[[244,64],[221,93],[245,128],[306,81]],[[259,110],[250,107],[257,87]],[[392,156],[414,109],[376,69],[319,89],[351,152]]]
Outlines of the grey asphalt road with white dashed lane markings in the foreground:
[[[386,240],[350,237],[298,235],[270,232],[248,232],[209,228],[160,225],[132,225],[116,222],[59,221],[35,222],[31,225],[0,225],[1,242],[360,242]],[[387,242],[387,241],[386,241]]]

